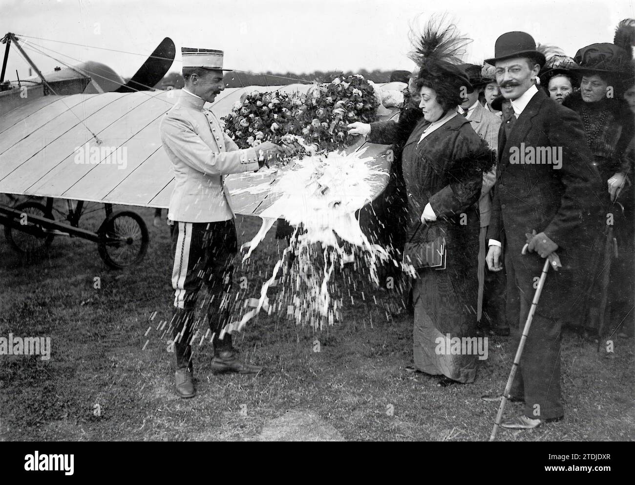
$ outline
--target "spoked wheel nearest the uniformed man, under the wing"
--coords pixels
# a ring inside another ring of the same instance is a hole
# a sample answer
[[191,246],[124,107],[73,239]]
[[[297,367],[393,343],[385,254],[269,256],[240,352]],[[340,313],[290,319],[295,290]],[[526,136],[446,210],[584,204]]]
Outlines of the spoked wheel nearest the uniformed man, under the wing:
[[148,249],[144,219],[131,210],[110,214],[99,229],[97,249],[104,263],[116,270],[140,263]]

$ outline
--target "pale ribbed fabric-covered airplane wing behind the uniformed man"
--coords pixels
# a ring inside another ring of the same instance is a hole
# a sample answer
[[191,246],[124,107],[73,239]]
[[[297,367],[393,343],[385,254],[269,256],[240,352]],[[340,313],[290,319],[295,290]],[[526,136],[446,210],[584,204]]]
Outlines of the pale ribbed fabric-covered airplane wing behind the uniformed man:
[[[308,88],[226,88],[210,107],[220,118],[244,92]],[[0,117],[0,193],[167,208],[174,177],[161,146],[159,122],[178,95],[171,90],[25,99],[23,106]],[[395,112],[383,110],[380,116],[391,118]],[[377,155],[374,168],[385,171],[377,176],[375,196],[388,181],[389,162],[380,156],[385,149],[369,147],[368,154]],[[275,177],[275,171],[227,177],[235,212],[257,215],[269,207],[266,191],[250,193],[246,188],[274,183]]]

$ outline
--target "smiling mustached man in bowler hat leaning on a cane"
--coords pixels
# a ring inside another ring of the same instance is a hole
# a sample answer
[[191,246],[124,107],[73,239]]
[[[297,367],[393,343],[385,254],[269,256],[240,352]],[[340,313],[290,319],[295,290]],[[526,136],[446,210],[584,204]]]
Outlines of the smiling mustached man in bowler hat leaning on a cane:
[[[510,322],[516,346],[543,258],[558,250],[562,263],[561,270],[547,275],[511,389],[510,399],[525,402],[525,412],[502,423],[505,428],[531,429],[559,420],[565,412],[560,395],[559,318],[576,291],[576,266],[585,261],[580,254],[582,226],[597,220],[601,202],[597,195],[603,194],[603,188],[580,117],[536,86],[545,57],[533,38],[525,32],[507,32],[497,39],[494,51],[495,57],[485,62],[496,66],[498,85],[510,103],[498,134],[486,261],[491,271],[501,271],[504,256],[508,297],[511,294],[520,307],[518,320]],[[521,255],[525,243],[529,253]],[[500,400],[500,396],[483,399]]]

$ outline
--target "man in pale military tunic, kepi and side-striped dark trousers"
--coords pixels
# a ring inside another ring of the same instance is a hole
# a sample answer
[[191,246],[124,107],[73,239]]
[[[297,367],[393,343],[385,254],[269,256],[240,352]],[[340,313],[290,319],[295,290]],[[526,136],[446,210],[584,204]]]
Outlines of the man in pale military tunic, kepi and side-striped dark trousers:
[[220,338],[229,323],[229,289],[232,261],[237,252],[236,226],[229,191],[228,174],[254,172],[268,160],[289,153],[290,148],[265,142],[239,150],[225,134],[216,116],[204,109],[224,90],[223,52],[182,48],[185,88],[161,120],[163,149],[172,162],[175,187],[170,199],[175,290],[171,321],[177,371],[175,385],[180,397],[196,395],[193,381],[192,350],[198,322],[194,322],[196,297],[205,283],[210,292],[206,315],[213,334],[214,372],[253,374],[260,367],[240,362],[232,346],[231,334]]

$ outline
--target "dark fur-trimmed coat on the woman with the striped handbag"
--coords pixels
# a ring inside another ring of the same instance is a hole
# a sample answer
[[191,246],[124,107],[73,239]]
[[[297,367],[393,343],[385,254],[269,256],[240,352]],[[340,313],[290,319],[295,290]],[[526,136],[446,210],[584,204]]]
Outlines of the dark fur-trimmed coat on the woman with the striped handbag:
[[[433,333],[473,335],[478,302],[478,200],[483,173],[493,167],[496,154],[463,116],[454,116],[419,142],[428,125],[419,121],[403,149],[406,242],[431,242],[443,236],[446,269],[420,271],[415,307],[417,298],[423,298],[421,308],[434,320]],[[424,225],[420,217],[427,203],[437,219]],[[417,322],[415,308],[417,325],[421,330],[424,322]]]

